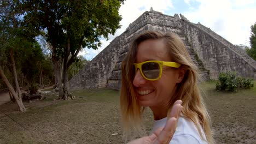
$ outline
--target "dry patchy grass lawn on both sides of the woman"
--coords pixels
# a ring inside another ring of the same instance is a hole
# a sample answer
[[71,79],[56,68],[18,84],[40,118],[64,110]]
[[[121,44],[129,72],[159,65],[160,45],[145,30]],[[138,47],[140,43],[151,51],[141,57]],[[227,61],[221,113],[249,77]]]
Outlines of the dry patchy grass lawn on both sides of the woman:
[[[215,82],[202,88],[217,143],[256,143],[256,81],[236,93],[214,91]],[[118,91],[74,91],[75,100],[66,101],[54,100],[56,94],[24,102],[26,113],[13,103],[0,105],[0,143],[123,143]],[[145,116],[150,130],[153,117]]]

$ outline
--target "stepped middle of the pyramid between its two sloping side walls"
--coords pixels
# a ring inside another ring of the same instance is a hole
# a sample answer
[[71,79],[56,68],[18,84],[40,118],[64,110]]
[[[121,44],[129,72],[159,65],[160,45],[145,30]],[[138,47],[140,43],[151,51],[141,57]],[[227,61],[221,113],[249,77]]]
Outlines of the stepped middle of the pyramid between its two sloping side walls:
[[[144,15],[147,16],[147,13],[149,13],[149,12],[146,12],[146,14],[144,14]],[[153,13],[153,16],[150,15],[151,19],[159,19],[159,17],[156,15],[161,14],[158,11],[150,11],[150,13],[151,14]],[[126,29],[126,32],[124,32],[124,33],[128,33],[126,35],[127,39],[125,41],[125,44],[123,45],[124,50],[119,55],[118,61],[112,71],[112,74],[110,75],[110,77],[108,79],[107,87],[113,88],[113,89],[120,89],[121,77],[122,77],[121,76],[121,64],[123,62],[124,57],[126,56],[127,51],[129,50],[129,45],[132,41],[132,38],[136,37],[135,35],[140,34],[142,32],[142,29],[143,29],[143,31],[157,30],[157,31],[162,31],[162,32],[173,32],[173,33],[178,34],[179,37],[183,40],[183,43],[185,44],[185,46],[187,47],[188,52],[189,52],[191,58],[193,59],[193,62],[199,69],[199,72],[201,75],[200,77],[202,78],[202,80],[210,80],[209,70],[205,69],[202,61],[199,59],[199,57],[194,52],[193,47],[191,47],[191,45],[189,44],[187,36],[185,36],[183,33],[182,26],[179,24],[180,19],[177,19],[176,17],[164,15],[164,17],[161,17],[160,23],[155,23],[154,21],[147,21],[147,23],[145,25],[140,25],[141,27],[139,27],[139,28],[137,27],[138,28],[137,31],[135,31],[133,33],[127,32],[127,31],[129,31],[129,29],[136,27],[136,24],[138,23],[139,20],[141,20],[141,18],[142,17],[139,17],[135,22],[133,22],[130,25],[129,28]],[[148,17],[146,17],[145,19],[147,19],[147,18]],[[172,25],[170,25],[170,24],[172,24]]]

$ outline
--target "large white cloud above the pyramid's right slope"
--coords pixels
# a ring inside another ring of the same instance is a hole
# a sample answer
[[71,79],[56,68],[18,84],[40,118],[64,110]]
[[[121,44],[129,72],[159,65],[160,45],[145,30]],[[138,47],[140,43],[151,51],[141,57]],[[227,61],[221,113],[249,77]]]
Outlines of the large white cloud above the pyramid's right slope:
[[249,45],[250,27],[256,21],[255,1],[196,1],[199,8],[183,13],[188,20],[210,27],[232,44]]

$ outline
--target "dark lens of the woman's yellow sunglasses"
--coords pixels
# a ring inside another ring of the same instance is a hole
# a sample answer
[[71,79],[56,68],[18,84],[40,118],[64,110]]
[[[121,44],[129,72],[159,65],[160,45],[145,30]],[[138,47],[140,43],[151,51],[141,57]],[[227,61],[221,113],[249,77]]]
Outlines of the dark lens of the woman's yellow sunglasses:
[[148,62],[142,65],[142,72],[148,79],[157,79],[160,74],[158,63]]

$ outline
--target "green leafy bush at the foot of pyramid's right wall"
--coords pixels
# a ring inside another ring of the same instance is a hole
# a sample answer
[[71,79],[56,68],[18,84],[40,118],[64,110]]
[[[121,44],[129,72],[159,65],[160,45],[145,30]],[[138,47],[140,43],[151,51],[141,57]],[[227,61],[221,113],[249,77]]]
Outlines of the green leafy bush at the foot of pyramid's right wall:
[[219,74],[219,81],[216,83],[216,89],[219,91],[234,92],[237,89],[248,89],[253,87],[253,79],[236,76],[235,72]]

